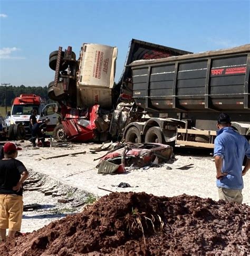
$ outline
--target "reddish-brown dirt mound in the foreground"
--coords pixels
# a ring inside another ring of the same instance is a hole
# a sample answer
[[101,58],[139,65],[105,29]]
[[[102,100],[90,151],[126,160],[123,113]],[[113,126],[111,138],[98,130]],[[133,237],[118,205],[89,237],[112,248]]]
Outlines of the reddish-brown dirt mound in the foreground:
[[246,255],[247,205],[197,196],[112,193],[38,231],[0,245],[1,255]]

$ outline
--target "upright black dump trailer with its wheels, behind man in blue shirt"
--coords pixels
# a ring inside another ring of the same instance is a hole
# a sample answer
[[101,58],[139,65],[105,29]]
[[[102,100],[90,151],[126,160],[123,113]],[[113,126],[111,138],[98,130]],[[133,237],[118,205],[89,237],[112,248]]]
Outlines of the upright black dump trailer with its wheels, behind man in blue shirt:
[[250,44],[130,67],[133,99],[143,116],[126,127],[126,140],[213,148],[220,112],[249,139]]

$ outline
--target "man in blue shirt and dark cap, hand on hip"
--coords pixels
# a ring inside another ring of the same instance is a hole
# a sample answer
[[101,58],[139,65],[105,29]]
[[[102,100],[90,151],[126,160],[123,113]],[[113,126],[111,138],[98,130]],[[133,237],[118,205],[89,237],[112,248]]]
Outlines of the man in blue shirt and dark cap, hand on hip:
[[[250,147],[246,138],[231,127],[230,117],[221,113],[218,118],[215,138],[214,158],[216,166],[216,185],[219,199],[242,203],[243,178],[250,168]],[[242,170],[245,155],[247,161]]]

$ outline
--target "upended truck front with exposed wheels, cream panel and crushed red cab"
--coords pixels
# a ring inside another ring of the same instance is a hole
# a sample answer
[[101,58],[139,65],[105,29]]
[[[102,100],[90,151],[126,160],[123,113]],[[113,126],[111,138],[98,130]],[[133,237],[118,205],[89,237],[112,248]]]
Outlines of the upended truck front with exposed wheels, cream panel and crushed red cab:
[[62,117],[57,140],[107,140],[116,59],[116,47],[98,44],[83,44],[77,61],[71,46],[50,54],[55,79],[48,93],[60,103]]

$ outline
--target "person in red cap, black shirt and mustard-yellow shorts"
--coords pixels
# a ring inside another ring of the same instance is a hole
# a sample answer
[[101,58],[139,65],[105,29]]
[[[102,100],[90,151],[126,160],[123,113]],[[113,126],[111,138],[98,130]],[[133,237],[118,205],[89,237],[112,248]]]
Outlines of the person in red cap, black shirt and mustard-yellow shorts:
[[1,239],[12,238],[21,230],[23,214],[23,182],[28,172],[22,162],[16,160],[17,151],[21,150],[14,143],[4,145],[4,158],[0,160],[0,230]]

